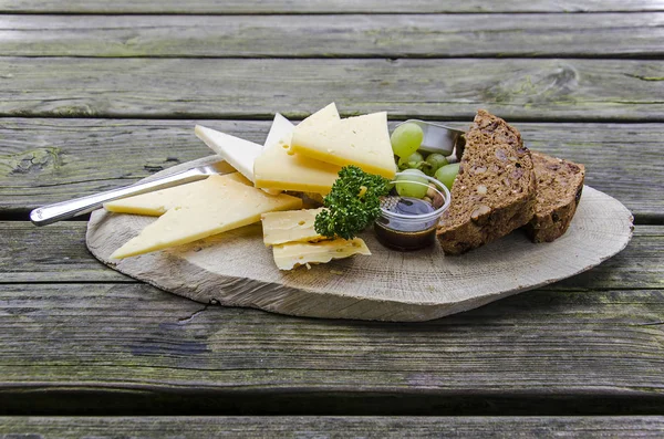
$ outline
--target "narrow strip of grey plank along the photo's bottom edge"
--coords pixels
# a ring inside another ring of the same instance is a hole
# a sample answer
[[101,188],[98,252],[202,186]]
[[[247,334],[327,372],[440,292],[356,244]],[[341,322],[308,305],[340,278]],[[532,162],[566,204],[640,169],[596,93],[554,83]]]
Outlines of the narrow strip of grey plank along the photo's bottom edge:
[[660,438],[662,416],[2,417],[0,435],[41,438]]

